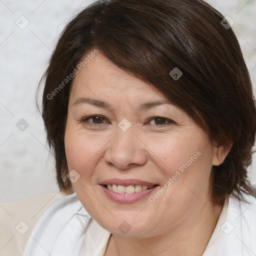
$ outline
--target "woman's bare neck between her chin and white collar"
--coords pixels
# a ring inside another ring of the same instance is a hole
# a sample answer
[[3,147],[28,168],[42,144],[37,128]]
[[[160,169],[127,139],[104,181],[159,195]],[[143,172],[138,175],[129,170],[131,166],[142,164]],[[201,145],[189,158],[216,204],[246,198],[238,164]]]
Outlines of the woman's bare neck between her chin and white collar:
[[222,206],[223,202],[210,202],[203,206],[199,215],[187,218],[179,226],[160,235],[139,238],[111,234],[104,256],[201,256],[216,226]]

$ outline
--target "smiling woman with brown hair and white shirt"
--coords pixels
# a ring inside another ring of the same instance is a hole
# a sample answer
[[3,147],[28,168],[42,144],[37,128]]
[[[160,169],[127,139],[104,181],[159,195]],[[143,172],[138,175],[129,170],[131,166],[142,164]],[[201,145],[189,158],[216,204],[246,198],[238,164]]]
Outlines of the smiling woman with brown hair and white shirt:
[[44,78],[60,192],[30,226],[15,223],[27,235],[13,234],[16,254],[256,254],[255,102],[219,12],[97,1],[67,24]]

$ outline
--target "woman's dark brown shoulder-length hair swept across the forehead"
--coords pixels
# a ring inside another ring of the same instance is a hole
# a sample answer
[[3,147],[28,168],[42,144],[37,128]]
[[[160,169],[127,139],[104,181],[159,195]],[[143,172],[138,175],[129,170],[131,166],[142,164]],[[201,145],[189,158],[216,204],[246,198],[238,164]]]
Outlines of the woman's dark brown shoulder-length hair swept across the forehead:
[[[227,146],[233,141],[224,162],[212,166],[212,199],[223,200],[232,191],[241,199],[241,191],[253,194],[246,168],[254,143],[255,102],[238,41],[221,24],[223,18],[202,0],[99,0],[65,26],[41,79],[42,117],[60,190],[72,187],[64,149],[72,79],[65,79],[84,54],[97,48],[182,108],[212,142]],[[174,67],[182,71],[177,80],[169,74]]]

